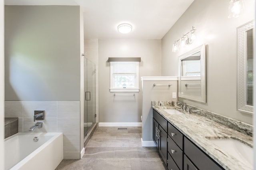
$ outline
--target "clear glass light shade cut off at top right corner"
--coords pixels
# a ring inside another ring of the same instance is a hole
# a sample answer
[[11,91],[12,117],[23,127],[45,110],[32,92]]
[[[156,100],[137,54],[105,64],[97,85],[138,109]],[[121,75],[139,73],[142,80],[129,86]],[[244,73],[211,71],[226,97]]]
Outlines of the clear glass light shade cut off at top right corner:
[[228,18],[237,18],[244,8],[243,0],[230,0],[228,6]]

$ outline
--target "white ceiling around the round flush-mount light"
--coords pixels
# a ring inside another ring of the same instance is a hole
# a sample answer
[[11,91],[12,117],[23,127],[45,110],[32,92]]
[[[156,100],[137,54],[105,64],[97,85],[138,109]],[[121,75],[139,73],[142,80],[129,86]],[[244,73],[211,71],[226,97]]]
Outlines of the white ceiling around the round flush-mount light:
[[[194,0],[5,0],[6,5],[80,5],[86,39],[162,39]],[[121,23],[133,26],[121,34]]]

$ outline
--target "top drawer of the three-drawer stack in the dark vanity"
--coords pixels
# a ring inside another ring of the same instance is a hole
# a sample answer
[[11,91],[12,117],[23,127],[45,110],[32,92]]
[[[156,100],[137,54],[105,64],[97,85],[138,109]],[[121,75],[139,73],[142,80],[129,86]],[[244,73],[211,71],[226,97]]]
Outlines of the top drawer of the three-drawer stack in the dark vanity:
[[168,135],[183,150],[183,134],[170,123],[168,123]]

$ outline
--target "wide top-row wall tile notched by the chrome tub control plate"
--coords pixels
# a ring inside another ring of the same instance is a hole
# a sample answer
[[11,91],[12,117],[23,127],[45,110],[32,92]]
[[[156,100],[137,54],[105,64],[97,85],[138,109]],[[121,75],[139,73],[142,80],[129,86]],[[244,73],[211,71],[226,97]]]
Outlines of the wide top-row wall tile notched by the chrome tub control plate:
[[44,110],[45,118],[57,117],[57,101],[24,101],[24,118],[33,118],[35,110]]

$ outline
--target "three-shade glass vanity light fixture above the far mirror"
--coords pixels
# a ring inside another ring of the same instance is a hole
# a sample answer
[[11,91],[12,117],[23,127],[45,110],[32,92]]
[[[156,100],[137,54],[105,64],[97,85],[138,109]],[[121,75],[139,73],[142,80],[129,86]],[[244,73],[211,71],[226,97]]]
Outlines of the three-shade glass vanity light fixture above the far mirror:
[[192,30],[190,30],[186,34],[182,34],[182,37],[174,42],[174,44],[172,45],[172,52],[175,53],[179,51],[178,41],[180,41],[181,47],[191,44],[196,39],[195,33],[196,29],[194,28],[194,26],[192,26]]

